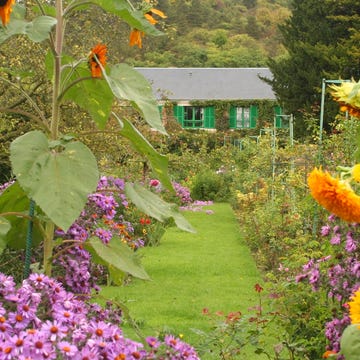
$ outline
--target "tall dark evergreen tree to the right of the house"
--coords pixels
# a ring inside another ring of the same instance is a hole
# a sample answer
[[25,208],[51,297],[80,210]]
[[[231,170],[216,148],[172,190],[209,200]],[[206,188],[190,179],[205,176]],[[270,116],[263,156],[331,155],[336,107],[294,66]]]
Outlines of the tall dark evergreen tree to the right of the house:
[[[354,68],[359,66],[359,13],[360,3],[356,1],[293,0],[292,16],[280,26],[288,55],[268,61],[273,73],[268,82],[286,112],[299,115],[300,110],[320,103],[323,78],[344,79],[350,72],[355,75]],[[325,126],[332,118],[329,114]],[[304,130],[301,121],[297,125],[298,131]]]

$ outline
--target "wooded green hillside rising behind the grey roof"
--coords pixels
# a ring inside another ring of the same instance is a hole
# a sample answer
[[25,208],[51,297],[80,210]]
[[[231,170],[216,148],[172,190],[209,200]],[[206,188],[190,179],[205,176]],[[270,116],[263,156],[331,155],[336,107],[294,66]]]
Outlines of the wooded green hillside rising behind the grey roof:
[[277,29],[290,0],[159,0],[165,35],[123,53],[134,66],[258,67],[285,53]]

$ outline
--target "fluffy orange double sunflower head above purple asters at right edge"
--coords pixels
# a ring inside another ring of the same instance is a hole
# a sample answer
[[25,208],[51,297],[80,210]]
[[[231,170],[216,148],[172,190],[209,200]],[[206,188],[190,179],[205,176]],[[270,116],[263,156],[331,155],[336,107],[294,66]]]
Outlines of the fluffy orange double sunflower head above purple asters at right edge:
[[360,222],[360,196],[350,185],[315,168],[308,176],[313,198],[326,210],[347,222]]

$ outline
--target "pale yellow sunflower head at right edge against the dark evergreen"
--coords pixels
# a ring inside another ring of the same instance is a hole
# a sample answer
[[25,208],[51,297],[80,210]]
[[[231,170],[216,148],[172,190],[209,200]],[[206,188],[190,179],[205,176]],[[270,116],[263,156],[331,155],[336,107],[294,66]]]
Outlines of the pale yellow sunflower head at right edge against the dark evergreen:
[[329,87],[334,100],[340,105],[340,110],[360,118],[360,81],[352,80]]

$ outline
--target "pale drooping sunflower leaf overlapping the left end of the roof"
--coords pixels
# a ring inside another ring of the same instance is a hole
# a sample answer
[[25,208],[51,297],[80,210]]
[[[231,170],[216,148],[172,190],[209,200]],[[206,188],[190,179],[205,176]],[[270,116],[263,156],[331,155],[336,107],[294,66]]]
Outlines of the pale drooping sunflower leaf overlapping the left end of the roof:
[[151,85],[142,74],[127,64],[117,64],[109,74],[103,71],[103,75],[118,99],[129,100],[152,128],[166,134]]

